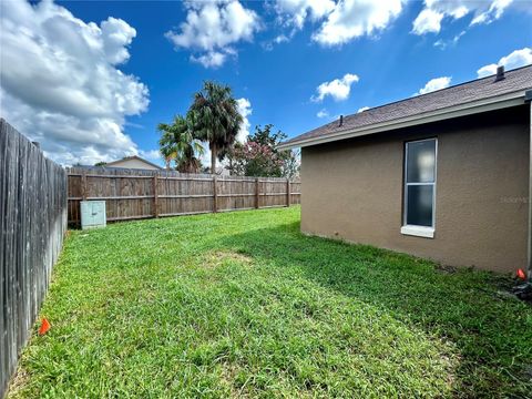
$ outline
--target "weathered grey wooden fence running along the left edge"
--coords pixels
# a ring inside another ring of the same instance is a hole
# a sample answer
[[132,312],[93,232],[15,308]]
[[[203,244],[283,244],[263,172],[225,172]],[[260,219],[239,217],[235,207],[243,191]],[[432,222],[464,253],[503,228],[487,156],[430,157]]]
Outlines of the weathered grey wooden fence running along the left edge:
[[66,229],[66,173],[0,120],[0,398],[31,335]]

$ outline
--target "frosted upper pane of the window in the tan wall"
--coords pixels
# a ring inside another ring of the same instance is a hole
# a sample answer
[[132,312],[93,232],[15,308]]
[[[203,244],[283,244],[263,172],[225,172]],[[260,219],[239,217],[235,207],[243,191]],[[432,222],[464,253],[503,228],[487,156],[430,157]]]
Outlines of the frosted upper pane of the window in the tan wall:
[[407,150],[407,182],[433,183],[436,140],[408,143]]

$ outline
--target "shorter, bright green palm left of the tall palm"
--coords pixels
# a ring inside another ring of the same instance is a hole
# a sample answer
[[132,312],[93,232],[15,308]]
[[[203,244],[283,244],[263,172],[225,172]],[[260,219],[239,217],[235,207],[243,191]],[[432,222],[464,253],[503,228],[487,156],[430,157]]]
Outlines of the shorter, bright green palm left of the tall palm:
[[166,162],[166,168],[170,163],[175,161],[177,171],[184,173],[195,173],[201,167],[201,162],[196,157],[203,155],[202,144],[192,135],[192,130],[187,121],[177,115],[172,124],[160,123],[157,129],[162,136],[158,141],[161,154]]

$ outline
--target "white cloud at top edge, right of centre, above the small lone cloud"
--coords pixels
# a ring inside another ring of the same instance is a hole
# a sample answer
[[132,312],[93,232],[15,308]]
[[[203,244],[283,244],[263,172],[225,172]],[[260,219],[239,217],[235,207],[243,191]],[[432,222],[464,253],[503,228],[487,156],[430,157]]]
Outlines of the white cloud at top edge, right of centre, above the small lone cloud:
[[340,0],[313,40],[324,45],[344,44],[387,28],[402,10],[401,0]]

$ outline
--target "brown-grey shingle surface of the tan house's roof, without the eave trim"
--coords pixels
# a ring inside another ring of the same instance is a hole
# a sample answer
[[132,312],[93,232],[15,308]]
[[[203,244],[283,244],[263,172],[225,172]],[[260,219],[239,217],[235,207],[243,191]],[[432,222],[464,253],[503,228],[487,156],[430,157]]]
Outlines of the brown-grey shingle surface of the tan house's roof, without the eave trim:
[[323,139],[332,133],[336,134],[360,127],[369,127],[378,123],[421,115],[427,112],[438,111],[453,105],[461,105],[469,102],[532,89],[532,65],[507,71],[504,76],[505,79],[499,82],[494,82],[494,75],[491,75],[431,93],[417,95],[411,99],[376,106],[360,113],[345,116],[341,126],[338,126],[338,121],[334,121],[290,139],[282,143],[282,145],[295,145],[301,141]]

